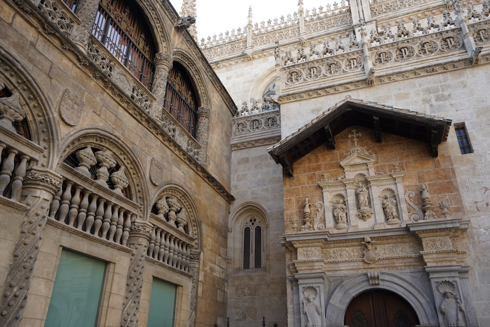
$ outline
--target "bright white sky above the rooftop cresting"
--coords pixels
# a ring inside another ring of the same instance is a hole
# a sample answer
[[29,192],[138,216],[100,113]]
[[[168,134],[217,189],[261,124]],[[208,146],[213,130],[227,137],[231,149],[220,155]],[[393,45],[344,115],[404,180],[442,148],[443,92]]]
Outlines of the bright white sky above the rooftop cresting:
[[[173,7],[180,13],[182,0],[171,0]],[[333,0],[303,0],[303,9],[324,8]],[[337,0],[340,3],[340,0]],[[196,0],[197,36],[202,38],[237,30],[247,24],[248,7],[252,6],[252,22],[267,22],[298,11],[298,0]]]

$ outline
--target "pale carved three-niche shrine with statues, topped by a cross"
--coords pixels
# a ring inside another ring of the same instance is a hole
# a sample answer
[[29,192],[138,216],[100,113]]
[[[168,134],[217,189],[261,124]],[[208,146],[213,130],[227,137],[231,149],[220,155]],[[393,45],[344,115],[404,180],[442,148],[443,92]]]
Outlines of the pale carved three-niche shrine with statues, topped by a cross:
[[[390,173],[375,171],[377,157],[360,146],[355,129],[348,135],[353,145],[340,161],[343,173],[323,174],[318,182],[323,190],[325,228],[331,232],[399,226],[409,220],[403,197],[403,176],[397,164]],[[400,196],[400,194],[402,196]]]

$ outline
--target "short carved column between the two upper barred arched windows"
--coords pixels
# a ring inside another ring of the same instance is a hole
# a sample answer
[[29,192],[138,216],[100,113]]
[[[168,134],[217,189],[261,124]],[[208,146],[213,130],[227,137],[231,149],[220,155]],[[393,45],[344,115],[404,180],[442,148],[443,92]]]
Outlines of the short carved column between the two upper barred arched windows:
[[153,75],[153,86],[151,93],[156,98],[151,110],[151,117],[160,121],[161,110],[165,101],[165,92],[167,90],[167,80],[169,72],[172,69],[172,56],[159,52],[155,54],[155,74]]

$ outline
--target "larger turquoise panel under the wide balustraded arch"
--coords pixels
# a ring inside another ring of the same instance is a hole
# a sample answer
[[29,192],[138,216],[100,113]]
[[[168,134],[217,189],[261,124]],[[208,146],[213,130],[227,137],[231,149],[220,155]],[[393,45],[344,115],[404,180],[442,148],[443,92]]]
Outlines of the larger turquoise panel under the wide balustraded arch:
[[45,327],[96,326],[104,272],[105,262],[63,250]]

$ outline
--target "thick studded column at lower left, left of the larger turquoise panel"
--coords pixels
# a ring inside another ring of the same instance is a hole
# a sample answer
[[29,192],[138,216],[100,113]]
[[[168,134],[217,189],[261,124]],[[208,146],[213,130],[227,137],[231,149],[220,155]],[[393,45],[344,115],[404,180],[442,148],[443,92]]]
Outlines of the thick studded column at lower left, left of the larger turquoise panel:
[[16,327],[24,313],[32,270],[48,219],[49,203],[61,189],[62,176],[44,168],[32,167],[24,177],[22,201],[28,207],[21,223],[12,264],[1,297],[0,326]]

